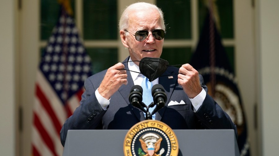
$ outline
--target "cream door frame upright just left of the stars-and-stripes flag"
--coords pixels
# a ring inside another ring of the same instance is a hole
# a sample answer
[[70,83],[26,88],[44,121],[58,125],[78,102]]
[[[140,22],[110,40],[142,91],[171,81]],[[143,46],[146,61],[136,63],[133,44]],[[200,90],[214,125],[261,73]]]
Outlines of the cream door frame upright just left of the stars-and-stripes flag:
[[40,59],[40,1],[21,0],[19,16],[20,106],[23,108],[23,129],[20,135],[20,155],[31,155],[31,126],[35,95],[35,79]]

